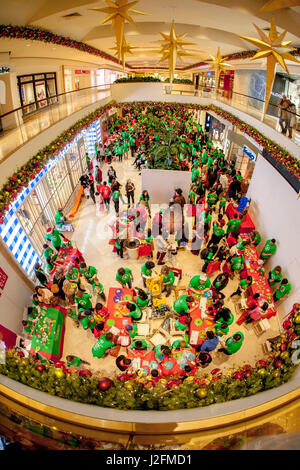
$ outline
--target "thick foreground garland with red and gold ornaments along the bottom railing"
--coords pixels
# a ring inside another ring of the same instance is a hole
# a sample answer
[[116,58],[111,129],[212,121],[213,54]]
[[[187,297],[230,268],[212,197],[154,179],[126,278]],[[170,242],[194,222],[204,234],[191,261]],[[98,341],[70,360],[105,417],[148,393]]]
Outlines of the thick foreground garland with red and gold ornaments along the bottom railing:
[[265,360],[257,361],[255,367],[246,364],[224,374],[214,369],[210,374],[186,379],[112,380],[86,369],[77,371],[59,363],[41,363],[14,350],[7,351],[0,374],[51,395],[103,407],[160,411],[199,408],[249,397],[289,381],[300,362],[299,341],[295,341],[300,335],[299,304],[294,305],[283,327],[285,333]]

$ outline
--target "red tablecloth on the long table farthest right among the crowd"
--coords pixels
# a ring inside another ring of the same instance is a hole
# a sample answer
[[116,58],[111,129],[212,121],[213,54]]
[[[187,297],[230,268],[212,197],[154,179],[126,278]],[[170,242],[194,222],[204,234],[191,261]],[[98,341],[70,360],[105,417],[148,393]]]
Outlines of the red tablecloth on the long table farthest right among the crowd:
[[[245,279],[247,276],[252,276],[253,283],[248,288],[248,292],[251,295],[256,294],[257,292],[260,294],[260,300],[265,300],[269,304],[269,308],[262,316],[262,318],[271,318],[276,315],[276,307],[274,304],[272,292],[267,280],[266,275],[261,275],[258,271],[258,260],[259,256],[257,250],[254,246],[247,245],[244,251],[244,258],[245,258],[245,268],[241,272],[241,279]],[[240,325],[243,323],[246,314],[241,315],[238,319],[237,323]]]

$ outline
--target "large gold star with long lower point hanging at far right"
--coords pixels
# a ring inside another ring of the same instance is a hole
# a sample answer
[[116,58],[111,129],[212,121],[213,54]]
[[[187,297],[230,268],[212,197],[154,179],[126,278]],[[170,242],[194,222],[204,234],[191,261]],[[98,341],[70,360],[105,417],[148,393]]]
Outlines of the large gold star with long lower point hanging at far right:
[[[254,24],[260,39],[250,38],[247,36],[239,36],[246,41],[251,42],[255,46],[259,47],[259,51],[251,58],[251,60],[267,58],[267,79],[266,79],[266,92],[265,92],[265,106],[263,115],[266,114],[267,107],[270,101],[272,86],[274,82],[274,77],[276,73],[277,63],[282,66],[285,72],[289,75],[288,68],[286,66],[285,60],[290,60],[292,62],[299,61],[290,54],[290,51],[295,50],[294,47],[290,47],[292,41],[283,41],[286,31],[278,35],[275,20],[272,18],[270,24],[269,36]],[[289,49],[288,51],[286,49]]]

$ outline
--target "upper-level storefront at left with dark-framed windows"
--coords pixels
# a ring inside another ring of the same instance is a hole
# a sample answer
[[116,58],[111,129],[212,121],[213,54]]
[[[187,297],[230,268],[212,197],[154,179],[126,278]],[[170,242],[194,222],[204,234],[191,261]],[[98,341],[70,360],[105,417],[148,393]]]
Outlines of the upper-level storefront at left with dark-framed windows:
[[19,75],[17,80],[21,106],[26,106],[23,116],[58,101],[57,98],[50,98],[57,94],[56,72]]

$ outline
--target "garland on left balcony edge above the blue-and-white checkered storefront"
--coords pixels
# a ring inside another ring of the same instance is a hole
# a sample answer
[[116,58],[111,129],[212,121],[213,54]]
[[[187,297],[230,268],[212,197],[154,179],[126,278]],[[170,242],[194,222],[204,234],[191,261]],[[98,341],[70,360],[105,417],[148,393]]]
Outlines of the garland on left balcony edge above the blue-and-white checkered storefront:
[[0,224],[4,222],[5,214],[9,210],[10,204],[18,197],[19,193],[24,190],[51,161],[54,160],[62,149],[68,145],[82,130],[89,127],[96,119],[108,111],[113,102],[97,108],[85,118],[77,121],[72,127],[60,134],[49,145],[41,149],[36,155],[30,158],[21,166],[14,174],[8,178],[6,183],[0,189]]

